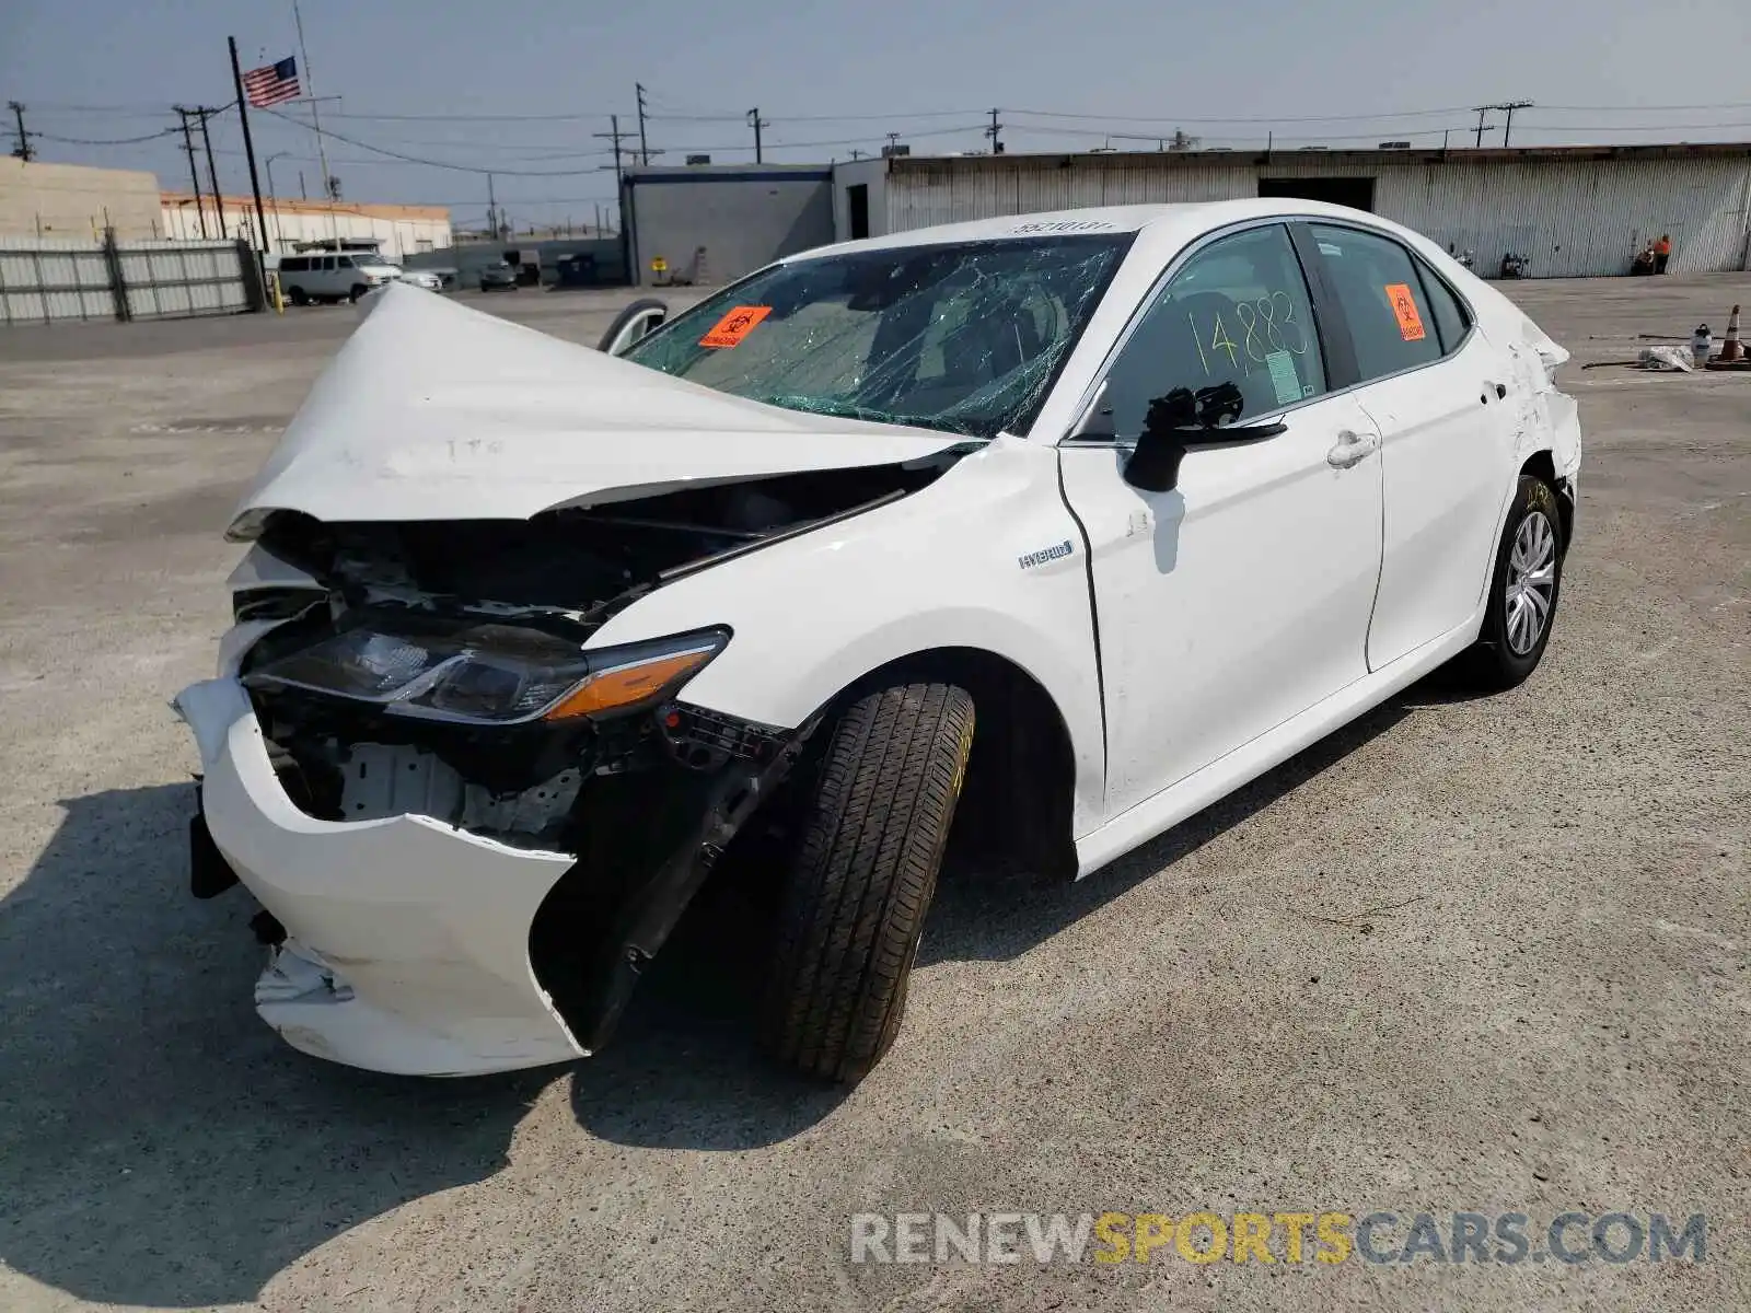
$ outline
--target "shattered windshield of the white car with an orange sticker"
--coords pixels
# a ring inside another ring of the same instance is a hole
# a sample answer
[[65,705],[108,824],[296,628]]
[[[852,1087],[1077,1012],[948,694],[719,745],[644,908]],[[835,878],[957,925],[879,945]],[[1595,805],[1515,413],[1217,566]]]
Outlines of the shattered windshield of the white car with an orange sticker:
[[858,250],[779,264],[627,359],[788,410],[1024,432],[1131,235]]

